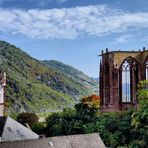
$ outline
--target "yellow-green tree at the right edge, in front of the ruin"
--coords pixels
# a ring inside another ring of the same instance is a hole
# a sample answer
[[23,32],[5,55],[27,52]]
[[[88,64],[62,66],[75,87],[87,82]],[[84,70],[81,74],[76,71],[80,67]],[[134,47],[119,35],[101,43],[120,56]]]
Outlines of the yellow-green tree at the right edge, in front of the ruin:
[[[132,145],[147,147],[148,145],[148,81],[139,84],[138,109],[132,114]],[[135,140],[136,139],[136,140]]]

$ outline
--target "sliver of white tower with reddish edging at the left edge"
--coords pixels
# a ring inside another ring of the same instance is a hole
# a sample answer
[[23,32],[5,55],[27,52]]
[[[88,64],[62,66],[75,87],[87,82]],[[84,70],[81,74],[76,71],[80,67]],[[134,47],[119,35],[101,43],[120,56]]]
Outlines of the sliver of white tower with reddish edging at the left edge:
[[5,112],[5,87],[6,73],[0,74],[0,117],[4,116]]

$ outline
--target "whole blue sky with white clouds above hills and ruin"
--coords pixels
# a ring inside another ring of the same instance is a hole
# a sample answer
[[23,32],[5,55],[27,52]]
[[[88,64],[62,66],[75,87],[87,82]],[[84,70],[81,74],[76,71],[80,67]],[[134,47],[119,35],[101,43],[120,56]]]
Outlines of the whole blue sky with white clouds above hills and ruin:
[[0,40],[98,77],[101,50],[148,47],[148,1],[0,0]]

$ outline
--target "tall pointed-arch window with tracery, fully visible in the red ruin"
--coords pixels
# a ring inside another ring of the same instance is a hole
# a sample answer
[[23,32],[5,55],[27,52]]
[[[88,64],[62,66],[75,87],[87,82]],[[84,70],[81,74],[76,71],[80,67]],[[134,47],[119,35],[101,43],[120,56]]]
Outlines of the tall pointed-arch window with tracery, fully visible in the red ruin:
[[122,102],[131,102],[131,66],[130,61],[122,64]]

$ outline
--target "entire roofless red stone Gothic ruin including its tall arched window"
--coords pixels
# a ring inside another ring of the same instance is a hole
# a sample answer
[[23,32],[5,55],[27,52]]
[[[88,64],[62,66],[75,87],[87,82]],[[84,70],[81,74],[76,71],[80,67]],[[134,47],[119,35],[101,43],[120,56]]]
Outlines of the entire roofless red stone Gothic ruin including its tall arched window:
[[102,51],[100,97],[102,111],[137,107],[137,84],[148,80],[148,50]]

